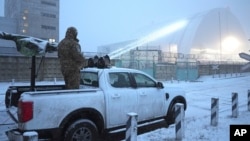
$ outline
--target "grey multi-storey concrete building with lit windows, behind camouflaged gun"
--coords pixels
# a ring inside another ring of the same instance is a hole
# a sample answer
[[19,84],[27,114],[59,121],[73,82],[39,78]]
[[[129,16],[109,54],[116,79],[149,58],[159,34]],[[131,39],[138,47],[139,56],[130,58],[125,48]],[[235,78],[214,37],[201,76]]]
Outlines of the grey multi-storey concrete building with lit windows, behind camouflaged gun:
[[16,20],[17,34],[59,40],[59,0],[5,0],[4,14]]

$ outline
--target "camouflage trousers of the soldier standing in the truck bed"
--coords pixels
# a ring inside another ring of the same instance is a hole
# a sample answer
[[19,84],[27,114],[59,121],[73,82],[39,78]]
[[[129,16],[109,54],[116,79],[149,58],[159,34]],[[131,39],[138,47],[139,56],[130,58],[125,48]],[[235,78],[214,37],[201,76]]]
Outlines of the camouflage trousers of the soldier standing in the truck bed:
[[66,89],[79,89],[80,86],[80,70],[78,69],[62,69]]

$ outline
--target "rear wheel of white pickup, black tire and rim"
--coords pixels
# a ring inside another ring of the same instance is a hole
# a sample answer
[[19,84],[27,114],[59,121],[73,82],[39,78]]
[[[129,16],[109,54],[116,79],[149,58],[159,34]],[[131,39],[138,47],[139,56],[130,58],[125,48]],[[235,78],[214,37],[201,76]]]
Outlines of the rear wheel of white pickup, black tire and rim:
[[98,138],[96,125],[91,120],[80,119],[68,127],[64,141],[97,141]]

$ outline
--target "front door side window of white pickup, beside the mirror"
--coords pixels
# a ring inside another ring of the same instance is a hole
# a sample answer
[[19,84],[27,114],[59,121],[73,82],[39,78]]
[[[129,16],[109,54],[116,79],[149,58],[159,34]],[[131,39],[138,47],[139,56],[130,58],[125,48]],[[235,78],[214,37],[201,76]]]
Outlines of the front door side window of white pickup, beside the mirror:
[[156,82],[146,75],[134,73],[137,87],[156,87]]

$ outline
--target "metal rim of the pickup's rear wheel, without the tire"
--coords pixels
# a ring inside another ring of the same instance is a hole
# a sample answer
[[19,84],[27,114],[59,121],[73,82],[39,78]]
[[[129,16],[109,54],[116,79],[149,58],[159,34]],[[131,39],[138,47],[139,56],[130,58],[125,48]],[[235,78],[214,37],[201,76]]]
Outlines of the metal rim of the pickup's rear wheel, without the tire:
[[91,130],[86,127],[77,129],[72,137],[72,141],[91,141],[91,140],[92,140]]

